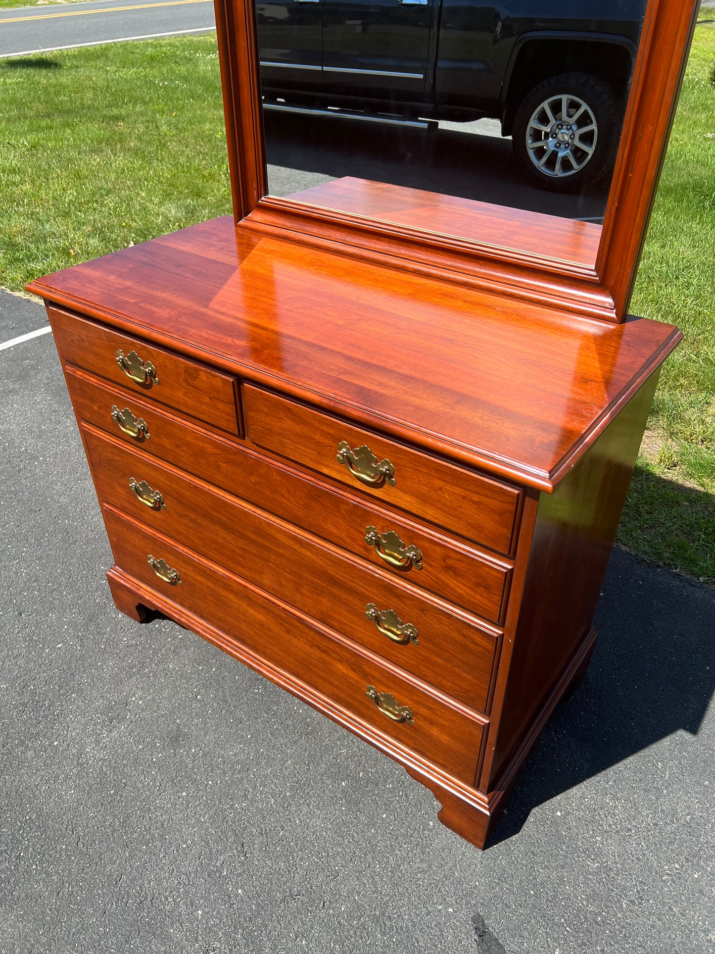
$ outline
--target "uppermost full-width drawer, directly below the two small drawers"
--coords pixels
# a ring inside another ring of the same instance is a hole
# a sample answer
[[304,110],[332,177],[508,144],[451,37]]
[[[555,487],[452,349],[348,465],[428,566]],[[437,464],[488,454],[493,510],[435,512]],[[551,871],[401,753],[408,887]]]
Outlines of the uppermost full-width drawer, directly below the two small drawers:
[[[72,369],[68,370],[67,380],[78,416],[108,430],[128,446],[141,447],[256,507],[275,513],[296,527],[355,553],[399,579],[501,623],[511,569],[500,558],[480,554],[466,544],[447,541],[369,500],[361,501],[326,481],[318,482],[287,465],[268,460],[254,450],[177,422],[151,404],[133,398],[128,403],[130,409],[148,425],[151,435],[150,440],[137,442],[112,421],[112,404],[121,399],[116,388],[99,384]],[[375,527],[380,534],[392,530],[406,546],[416,547],[421,553],[421,570],[411,561],[398,569],[386,563],[378,550],[365,542],[370,527]]]

